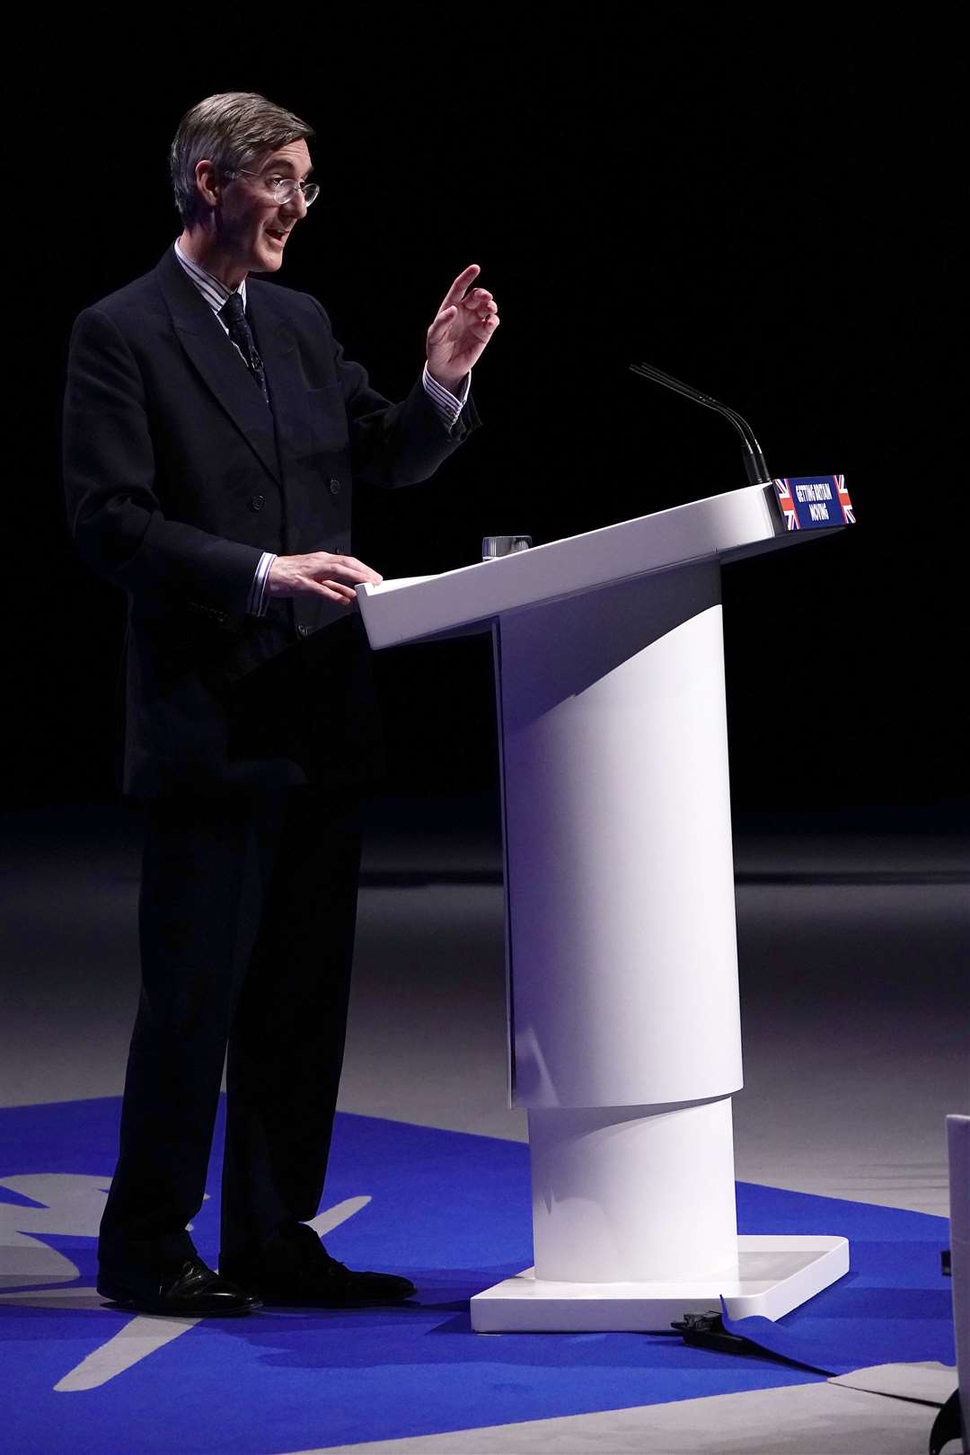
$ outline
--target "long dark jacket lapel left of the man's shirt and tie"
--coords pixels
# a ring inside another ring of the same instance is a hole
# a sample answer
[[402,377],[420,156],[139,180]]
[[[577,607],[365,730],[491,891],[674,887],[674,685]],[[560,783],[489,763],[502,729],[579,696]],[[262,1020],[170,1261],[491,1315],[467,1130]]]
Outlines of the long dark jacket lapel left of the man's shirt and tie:
[[[282,485],[273,418],[266,402],[223,324],[186,276],[175,249],[170,247],[159,263],[157,278],[182,348],[262,464]],[[262,340],[259,346],[262,351]],[[269,388],[272,397],[272,381]]]

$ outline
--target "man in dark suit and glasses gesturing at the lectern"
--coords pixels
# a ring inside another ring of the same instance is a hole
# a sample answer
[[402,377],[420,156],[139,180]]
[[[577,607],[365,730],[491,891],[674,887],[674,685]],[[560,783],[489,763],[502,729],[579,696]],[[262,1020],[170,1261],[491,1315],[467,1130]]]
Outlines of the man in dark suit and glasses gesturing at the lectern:
[[[318,194],[313,131],[249,93],[182,119],[183,231],[71,338],[64,483],[76,543],[128,592],[124,789],[145,803],[141,1000],[97,1288],[156,1314],[407,1298],[311,1228],[336,1103],[378,758],[349,554],[355,479],[426,479],[477,425],[497,326],[465,268],[393,404],[279,271]],[[223,1061],[218,1275],[202,1205]]]

